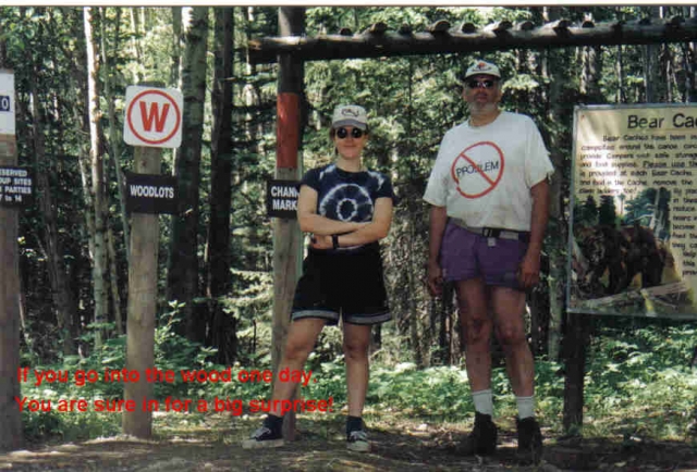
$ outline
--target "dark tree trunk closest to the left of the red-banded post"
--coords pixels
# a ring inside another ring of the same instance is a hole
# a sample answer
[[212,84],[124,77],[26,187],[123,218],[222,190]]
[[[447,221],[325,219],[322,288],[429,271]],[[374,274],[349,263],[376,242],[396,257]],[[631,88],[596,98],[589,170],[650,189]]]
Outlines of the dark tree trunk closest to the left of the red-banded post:
[[236,320],[225,313],[220,297],[231,287],[230,208],[232,174],[232,82],[234,9],[216,11],[216,66],[210,97],[213,124],[211,132],[210,220],[206,246],[206,296],[210,299],[209,345],[218,349],[217,361],[232,364],[236,357]]

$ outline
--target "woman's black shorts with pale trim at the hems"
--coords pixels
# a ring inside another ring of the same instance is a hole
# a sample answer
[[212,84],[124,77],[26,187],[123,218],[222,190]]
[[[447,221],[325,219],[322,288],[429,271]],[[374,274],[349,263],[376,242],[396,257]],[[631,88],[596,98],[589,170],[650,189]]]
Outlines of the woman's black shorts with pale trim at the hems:
[[345,251],[309,250],[295,287],[292,320],[378,324],[392,319],[378,245]]

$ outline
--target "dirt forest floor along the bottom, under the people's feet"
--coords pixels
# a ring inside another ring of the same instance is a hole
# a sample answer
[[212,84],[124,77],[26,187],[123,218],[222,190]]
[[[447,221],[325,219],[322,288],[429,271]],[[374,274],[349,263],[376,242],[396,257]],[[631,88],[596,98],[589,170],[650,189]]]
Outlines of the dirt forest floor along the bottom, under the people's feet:
[[[156,413],[157,414],[157,413]],[[543,428],[545,456],[537,467],[515,460],[513,422],[498,419],[499,449],[484,460],[463,457],[458,445],[470,423],[367,417],[374,444],[368,454],[346,450],[343,415],[304,414],[298,437],[278,449],[245,450],[240,442],[259,417],[166,413],[155,419],[155,437],[127,436],[80,443],[49,442],[0,455],[1,471],[682,471],[697,472],[697,438],[655,442],[622,437],[561,440]]]

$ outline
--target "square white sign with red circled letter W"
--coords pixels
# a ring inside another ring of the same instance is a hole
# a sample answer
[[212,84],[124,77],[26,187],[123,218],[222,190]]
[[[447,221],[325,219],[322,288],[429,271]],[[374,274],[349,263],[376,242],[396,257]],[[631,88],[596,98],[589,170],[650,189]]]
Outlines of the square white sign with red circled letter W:
[[174,88],[126,88],[123,140],[132,146],[179,148],[184,98]]

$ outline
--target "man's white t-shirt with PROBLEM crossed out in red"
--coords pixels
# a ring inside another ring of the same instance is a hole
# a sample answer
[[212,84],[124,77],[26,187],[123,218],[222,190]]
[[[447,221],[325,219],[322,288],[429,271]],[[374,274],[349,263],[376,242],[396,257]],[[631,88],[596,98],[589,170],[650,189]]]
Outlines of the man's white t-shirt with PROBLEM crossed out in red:
[[445,133],[424,199],[468,226],[529,231],[530,188],[553,172],[535,122],[501,112],[488,125]]

